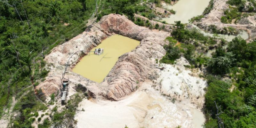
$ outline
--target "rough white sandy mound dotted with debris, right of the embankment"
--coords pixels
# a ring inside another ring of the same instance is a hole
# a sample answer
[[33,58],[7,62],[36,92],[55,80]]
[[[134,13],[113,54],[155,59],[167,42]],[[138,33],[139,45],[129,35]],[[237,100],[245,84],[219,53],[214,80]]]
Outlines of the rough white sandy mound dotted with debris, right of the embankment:
[[190,100],[197,108],[201,109],[204,104],[204,88],[206,81],[197,77],[190,69],[184,65],[189,65],[183,57],[177,60],[174,65],[163,64],[165,68],[159,72],[159,90],[176,100]]

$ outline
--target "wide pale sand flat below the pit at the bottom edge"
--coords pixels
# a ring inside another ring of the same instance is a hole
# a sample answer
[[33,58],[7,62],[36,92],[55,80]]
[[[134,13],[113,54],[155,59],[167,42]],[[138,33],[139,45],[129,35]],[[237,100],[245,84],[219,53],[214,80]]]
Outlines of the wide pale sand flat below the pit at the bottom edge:
[[144,82],[138,91],[120,101],[83,100],[78,109],[85,111],[76,113],[77,127],[199,128],[194,126],[198,118],[193,121],[193,114],[198,115],[198,110],[189,107],[192,104],[185,100],[173,104],[151,86],[151,82]]

